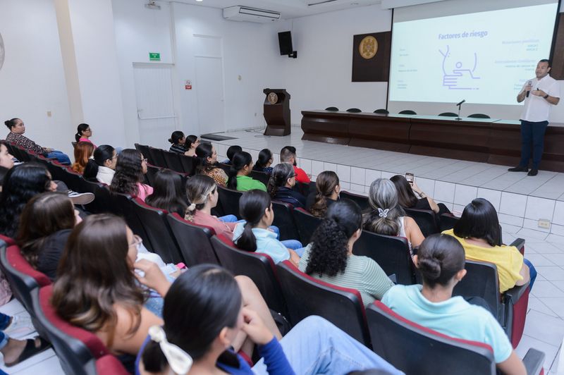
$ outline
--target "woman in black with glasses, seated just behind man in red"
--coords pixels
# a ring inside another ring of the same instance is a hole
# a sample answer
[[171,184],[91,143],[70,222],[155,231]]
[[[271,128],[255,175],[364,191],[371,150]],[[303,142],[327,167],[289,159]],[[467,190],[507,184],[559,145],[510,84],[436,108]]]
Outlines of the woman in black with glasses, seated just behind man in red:
[[280,202],[286,202],[295,208],[305,207],[305,197],[293,190],[295,186],[294,167],[288,163],[277,164],[272,170],[267,187],[270,197]]

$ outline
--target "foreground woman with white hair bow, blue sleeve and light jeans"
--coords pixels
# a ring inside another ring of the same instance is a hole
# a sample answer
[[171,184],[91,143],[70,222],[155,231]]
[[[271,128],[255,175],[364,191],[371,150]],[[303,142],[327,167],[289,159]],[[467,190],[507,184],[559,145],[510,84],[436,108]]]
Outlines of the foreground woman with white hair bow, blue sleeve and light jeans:
[[[202,264],[183,273],[165,297],[164,326],[149,329],[137,356],[139,373],[400,374],[319,316],[300,321],[278,342],[259,314],[241,302],[240,286],[221,267]],[[236,354],[243,336],[262,356],[252,369]]]

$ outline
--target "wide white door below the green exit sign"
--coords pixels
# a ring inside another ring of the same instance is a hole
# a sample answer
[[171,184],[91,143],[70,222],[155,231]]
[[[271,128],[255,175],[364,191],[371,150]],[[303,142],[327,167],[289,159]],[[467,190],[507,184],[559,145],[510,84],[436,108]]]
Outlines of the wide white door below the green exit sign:
[[[177,128],[172,66],[134,64],[135,97],[140,143],[168,149],[168,137]],[[147,156],[147,155],[145,155]]]

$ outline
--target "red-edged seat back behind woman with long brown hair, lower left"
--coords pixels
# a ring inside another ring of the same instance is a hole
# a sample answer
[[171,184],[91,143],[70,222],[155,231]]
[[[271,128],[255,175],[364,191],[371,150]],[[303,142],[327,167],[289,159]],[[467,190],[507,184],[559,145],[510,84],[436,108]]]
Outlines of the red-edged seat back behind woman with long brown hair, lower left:
[[52,285],[35,290],[34,310],[65,374],[128,374],[94,333],[73,326],[56,314],[51,306],[52,294]]

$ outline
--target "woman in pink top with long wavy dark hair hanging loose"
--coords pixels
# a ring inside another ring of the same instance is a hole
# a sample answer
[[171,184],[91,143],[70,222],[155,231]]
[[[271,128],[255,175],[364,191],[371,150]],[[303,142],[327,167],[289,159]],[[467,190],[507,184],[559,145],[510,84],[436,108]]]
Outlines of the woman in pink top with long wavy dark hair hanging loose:
[[129,194],[145,202],[153,188],[142,183],[147,173],[147,159],[136,149],[124,149],[118,155],[116,173],[111,180],[110,191]]

